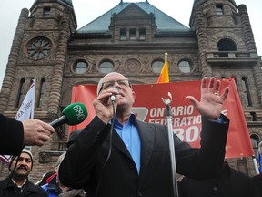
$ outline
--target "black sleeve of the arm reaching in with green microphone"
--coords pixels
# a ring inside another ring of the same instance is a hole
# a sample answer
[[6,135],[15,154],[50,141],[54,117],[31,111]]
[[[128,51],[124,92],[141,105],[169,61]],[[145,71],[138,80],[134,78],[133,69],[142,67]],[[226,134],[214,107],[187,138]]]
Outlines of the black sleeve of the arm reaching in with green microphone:
[[24,142],[22,122],[0,114],[0,130],[0,154],[19,155]]

